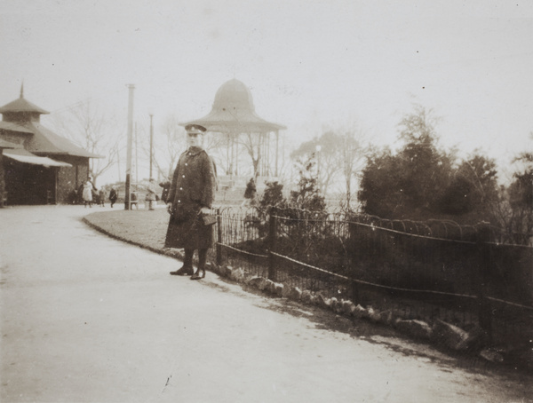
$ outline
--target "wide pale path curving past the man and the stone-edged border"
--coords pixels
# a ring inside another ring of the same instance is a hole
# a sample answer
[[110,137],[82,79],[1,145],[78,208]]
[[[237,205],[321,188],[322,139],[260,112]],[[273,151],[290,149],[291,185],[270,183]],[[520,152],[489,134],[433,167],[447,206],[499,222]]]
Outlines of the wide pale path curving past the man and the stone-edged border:
[[81,221],[89,212],[0,209],[2,402],[531,399],[530,376],[465,365],[383,331],[332,331],[321,315],[352,330],[370,325],[213,273],[172,277],[177,261],[97,233]]

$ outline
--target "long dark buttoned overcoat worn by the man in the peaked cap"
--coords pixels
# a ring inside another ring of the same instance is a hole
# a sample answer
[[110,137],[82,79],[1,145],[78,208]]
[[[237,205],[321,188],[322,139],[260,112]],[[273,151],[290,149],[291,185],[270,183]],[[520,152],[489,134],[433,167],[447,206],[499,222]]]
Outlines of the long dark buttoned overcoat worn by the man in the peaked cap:
[[215,186],[213,163],[203,149],[190,147],[179,156],[168,198],[172,206],[167,248],[211,247],[212,227],[202,225],[198,212],[202,207],[211,209]]

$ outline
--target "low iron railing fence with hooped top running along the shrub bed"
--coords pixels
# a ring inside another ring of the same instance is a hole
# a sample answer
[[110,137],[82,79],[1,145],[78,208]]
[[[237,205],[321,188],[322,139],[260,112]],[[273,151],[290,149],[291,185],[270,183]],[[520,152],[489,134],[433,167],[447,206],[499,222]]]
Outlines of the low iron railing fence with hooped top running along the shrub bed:
[[495,343],[533,337],[533,248],[497,243],[489,225],[228,207],[217,233],[219,265],[395,317],[479,325]]

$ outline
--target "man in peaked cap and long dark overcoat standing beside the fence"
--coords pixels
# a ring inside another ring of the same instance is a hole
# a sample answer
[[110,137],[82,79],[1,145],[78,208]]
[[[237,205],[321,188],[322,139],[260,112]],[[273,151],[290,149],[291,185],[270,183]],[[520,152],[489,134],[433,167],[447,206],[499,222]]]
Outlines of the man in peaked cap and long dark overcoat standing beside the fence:
[[210,213],[216,178],[210,156],[203,150],[205,128],[187,124],[187,151],[179,156],[172,176],[167,209],[171,214],[165,248],[185,249],[183,266],[172,275],[194,273],[193,256],[198,249],[198,271],[191,280],[205,277],[207,249],[213,242],[212,225],[203,225],[202,216]]

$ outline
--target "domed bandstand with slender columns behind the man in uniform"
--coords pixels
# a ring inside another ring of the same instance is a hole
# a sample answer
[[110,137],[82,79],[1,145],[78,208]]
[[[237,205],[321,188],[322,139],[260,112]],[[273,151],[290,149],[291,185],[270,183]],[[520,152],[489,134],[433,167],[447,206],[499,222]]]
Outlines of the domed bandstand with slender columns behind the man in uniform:
[[[180,124],[189,123],[201,124],[208,131],[225,135],[228,176],[238,175],[238,160],[243,149],[251,156],[254,176],[278,176],[279,130],[286,127],[260,118],[255,112],[251,91],[239,80],[229,80],[220,86],[209,115]],[[273,148],[274,162],[271,161]]]

